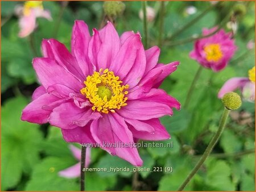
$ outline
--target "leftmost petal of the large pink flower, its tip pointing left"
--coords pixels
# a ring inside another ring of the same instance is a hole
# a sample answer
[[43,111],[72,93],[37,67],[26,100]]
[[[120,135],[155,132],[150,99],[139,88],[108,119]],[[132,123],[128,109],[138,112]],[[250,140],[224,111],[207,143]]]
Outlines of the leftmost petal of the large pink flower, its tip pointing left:
[[47,123],[52,109],[63,102],[63,99],[57,98],[54,95],[43,94],[23,109],[21,120],[38,124]]

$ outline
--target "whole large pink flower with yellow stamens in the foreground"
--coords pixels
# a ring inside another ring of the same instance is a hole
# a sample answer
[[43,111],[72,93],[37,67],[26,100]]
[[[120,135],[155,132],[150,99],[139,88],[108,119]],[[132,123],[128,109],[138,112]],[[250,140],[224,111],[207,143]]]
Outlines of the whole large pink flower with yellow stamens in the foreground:
[[157,64],[160,49],[145,51],[139,33],[119,37],[109,22],[90,36],[88,26],[76,20],[71,53],[54,39],[43,40],[42,49],[44,57],[33,60],[42,86],[22,120],[49,122],[61,128],[65,141],[100,144],[136,166],[142,160],[131,143],[170,138],[158,118],[172,115],[180,103],[158,87],[179,62]]

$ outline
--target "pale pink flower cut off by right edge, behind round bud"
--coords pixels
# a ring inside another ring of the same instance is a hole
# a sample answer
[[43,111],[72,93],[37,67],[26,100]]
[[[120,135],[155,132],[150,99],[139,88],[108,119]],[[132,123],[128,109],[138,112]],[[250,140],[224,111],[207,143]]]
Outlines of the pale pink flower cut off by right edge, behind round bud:
[[249,77],[230,78],[218,92],[218,98],[222,98],[226,93],[240,89],[243,99],[255,101],[255,66],[249,70]]

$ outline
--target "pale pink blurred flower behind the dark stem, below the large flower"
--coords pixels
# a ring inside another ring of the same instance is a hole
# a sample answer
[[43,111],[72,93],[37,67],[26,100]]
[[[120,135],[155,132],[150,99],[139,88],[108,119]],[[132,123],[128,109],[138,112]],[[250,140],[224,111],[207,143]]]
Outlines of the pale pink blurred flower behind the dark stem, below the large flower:
[[[80,177],[80,173],[81,173],[81,149],[73,146],[73,145],[69,145],[69,148],[71,149],[71,152],[73,154],[73,156],[79,160],[79,162],[76,165],[73,165],[67,169],[61,170],[59,172],[59,176],[61,177],[66,177],[66,178],[76,178],[76,177]],[[85,168],[88,168],[89,164],[90,164],[90,148],[86,148],[86,157],[85,157]]]

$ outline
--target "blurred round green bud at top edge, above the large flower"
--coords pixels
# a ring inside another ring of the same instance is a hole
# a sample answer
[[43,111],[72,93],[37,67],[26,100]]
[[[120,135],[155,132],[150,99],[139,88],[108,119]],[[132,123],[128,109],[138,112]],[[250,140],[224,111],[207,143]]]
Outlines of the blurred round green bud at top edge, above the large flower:
[[111,18],[116,18],[125,10],[125,4],[121,1],[105,1],[103,9],[106,15]]

